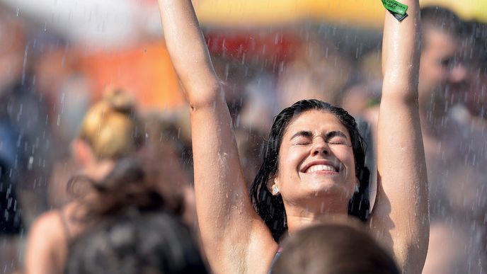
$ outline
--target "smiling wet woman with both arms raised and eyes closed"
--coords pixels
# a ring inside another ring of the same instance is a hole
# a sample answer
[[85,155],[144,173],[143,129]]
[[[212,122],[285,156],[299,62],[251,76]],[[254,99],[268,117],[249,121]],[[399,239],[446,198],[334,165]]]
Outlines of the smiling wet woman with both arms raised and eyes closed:
[[399,22],[386,13],[384,23],[379,188],[369,215],[369,176],[355,120],[317,100],[277,115],[248,197],[229,109],[191,1],[159,0],[168,52],[190,103],[198,224],[215,273],[267,273],[282,234],[347,213],[367,220],[403,273],[421,273],[429,222],[417,103],[419,3],[401,3],[408,16]]

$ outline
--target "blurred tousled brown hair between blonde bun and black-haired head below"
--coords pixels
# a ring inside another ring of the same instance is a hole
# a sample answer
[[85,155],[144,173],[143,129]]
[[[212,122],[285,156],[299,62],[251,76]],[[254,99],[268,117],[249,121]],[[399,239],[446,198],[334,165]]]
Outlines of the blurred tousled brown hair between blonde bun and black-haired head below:
[[68,193],[77,200],[74,221],[92,224],[134,208],[178,213],[179,207],[173,207],[148,182],[144,161],[137,157],[119,159],[106,173],[103,178],[79,174],[68,181]]

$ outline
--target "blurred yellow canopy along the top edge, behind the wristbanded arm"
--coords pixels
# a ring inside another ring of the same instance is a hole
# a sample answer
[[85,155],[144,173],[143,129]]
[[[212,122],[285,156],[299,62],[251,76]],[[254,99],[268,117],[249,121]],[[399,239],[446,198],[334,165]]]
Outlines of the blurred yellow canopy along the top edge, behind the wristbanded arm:
[[[451,8],[466,20],[487,22],[486,0],[420,0],[422,6]],[[199,0],[200,20],[207,25],[248,27],[314,20],[360,28],[382,26],[384,8],[379,0]]]

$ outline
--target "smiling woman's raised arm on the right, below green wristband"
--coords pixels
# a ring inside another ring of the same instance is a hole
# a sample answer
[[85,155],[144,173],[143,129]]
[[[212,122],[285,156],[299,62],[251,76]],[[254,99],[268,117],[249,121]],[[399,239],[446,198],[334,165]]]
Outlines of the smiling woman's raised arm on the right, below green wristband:
[[421,273],[428,251],[428,178],[418,111],[418,0],[401,0],[408,17],[386,12],[382,100],[377,127],[379,190],[371,225],[406,273]]

